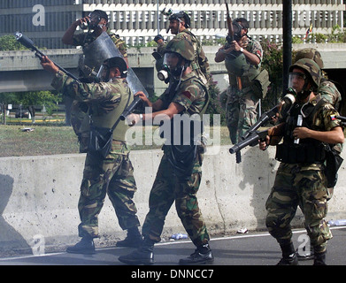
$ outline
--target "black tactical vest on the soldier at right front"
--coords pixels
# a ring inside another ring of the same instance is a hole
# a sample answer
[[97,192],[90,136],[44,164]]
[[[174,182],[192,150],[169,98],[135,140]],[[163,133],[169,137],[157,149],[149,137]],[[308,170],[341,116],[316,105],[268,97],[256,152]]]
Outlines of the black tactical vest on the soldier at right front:
[[[294,103],[286,115],[283,142],[276,147],[275,159],[288,164],[323,163],[326,159],[326,150],[322,142],[315,139],[301,139],[296,144],[293,131],[296,128],[298,115],[304,114],[302,126],[318,130],[313,126],[313,118],[317,111],[327,102],[320,99],[314,106],[311,103],[300,105]],[[302,110],[303,108],[303,110]]]

